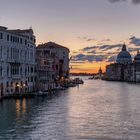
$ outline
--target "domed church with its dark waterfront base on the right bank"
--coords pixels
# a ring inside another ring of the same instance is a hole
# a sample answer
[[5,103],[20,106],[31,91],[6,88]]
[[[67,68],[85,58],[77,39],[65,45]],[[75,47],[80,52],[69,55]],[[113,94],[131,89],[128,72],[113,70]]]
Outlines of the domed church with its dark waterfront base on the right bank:
[[111,81],[140,82],[140,53],[132,61],[130,53],[123,44],[121,52],[117,55],[114,64],[106,66],[106,73],[103,79]]

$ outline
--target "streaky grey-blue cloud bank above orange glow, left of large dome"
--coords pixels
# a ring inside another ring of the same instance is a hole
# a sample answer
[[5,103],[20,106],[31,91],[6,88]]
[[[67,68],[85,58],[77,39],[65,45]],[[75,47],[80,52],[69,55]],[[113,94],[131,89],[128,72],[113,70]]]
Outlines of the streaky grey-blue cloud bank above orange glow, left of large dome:
[[121,47],[122,44],[85,47],[79,50],[79,54],[73,56],[73,61],[115,61]]

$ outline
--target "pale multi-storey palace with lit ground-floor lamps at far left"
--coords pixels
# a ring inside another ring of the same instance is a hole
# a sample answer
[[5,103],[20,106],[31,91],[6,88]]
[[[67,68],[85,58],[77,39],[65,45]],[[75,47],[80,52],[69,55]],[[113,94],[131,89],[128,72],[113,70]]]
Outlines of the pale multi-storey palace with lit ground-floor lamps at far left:
[[32,29],[9,30],[0,26],[0,96],[33,92],[35,49]]

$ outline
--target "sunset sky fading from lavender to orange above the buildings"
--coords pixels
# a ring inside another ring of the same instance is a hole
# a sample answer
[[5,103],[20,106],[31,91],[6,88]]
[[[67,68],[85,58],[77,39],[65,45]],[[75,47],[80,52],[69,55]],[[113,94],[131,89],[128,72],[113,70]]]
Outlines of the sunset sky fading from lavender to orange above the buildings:
[[140,0],[0,0],[0,26],[68,47],[71,72],[105,71],[124,42],[140,48]]

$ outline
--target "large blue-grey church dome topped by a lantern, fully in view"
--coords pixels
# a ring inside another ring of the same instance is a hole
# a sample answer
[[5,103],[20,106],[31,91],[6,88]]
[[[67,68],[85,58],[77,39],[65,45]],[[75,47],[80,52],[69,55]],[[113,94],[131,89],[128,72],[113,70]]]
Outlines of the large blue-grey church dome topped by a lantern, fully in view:
[[117,56],[117,63],[120,64],[129,64],[132,63],[132,58],[130,53],[126,50],[126,45],[122,47],[122,51]]

